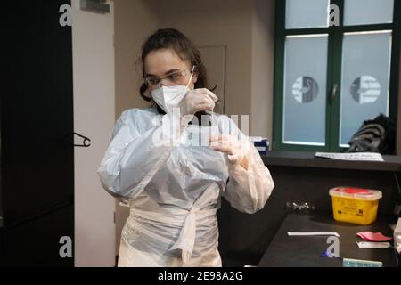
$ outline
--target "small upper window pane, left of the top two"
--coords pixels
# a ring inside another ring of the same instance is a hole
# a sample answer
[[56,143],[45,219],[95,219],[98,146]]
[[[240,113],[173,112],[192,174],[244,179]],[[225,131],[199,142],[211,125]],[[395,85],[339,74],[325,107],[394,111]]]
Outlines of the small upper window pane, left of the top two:
[[287,0],[285,28],[329,27],[329,0]]

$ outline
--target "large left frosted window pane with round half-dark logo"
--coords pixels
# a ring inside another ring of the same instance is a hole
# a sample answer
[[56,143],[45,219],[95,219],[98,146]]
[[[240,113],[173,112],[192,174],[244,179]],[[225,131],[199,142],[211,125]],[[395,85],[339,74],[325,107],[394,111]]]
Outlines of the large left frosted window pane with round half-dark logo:
[[325,143],[327,45],[328,35],[286,38],[284,143]]

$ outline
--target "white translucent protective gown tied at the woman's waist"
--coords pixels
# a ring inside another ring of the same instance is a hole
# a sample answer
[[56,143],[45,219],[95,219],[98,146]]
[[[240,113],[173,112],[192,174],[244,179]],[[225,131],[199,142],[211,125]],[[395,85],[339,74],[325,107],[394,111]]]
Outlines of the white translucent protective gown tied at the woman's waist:
[[[239,132],[230,118],[213,117],[220,131]],[[187,126],[175,146],[155,145],[152,136],[166,124],[169,115],[155,108],[124,111],[98,170],[103,188],[130,207],[119,266],[221,266],[220,197],[241,212],[255,213],[274,188],[272,177],[253,145],[246,170],[222,152],[188,144],[210,126]]]

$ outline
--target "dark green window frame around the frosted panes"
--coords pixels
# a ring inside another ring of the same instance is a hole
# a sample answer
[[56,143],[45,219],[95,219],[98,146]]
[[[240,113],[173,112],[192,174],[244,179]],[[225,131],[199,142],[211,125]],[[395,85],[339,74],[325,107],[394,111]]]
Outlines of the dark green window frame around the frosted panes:
[[[340,26],[327,28],[293,28],[285,29],[285,8],[287,0],[276,1],[275,6],[275,45],[274,45],[274,114],[273,114],[273,150],[280,151],[331,151],[340,152],[340,97],[341,97],[341,71],[342,71],[342,44],[343,34],[348,32],[364,32],[376,30],[391,30],[391,61],[389,78],[389,118],[397,122],[398,80],[400,62],[400,22],[401,0],[394,0],[393,22],[386,24],[369,24],[357,26],[343,26],[344,1],[331,0],[340,8]],[[283,123],[283,85],[284,85],[284,55],[285,38],[293,35],[328,34],[327,59],[327,88],[326,88],[326,122],[325,145],[300,145],[282,142]],[[339,88],[333,102],[329,99],[331,88],[338,84]],[[401,116],[401,115],[400,115]]]

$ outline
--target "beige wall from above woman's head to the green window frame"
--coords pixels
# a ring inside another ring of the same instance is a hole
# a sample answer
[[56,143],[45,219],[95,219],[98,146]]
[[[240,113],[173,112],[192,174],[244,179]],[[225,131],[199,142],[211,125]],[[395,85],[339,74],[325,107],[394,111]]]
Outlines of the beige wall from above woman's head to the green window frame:
[[250,134],[272,137],[274,0],[160,2],[160,28],[195,45],[225,45],[225,113],[250,115]]

